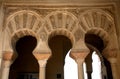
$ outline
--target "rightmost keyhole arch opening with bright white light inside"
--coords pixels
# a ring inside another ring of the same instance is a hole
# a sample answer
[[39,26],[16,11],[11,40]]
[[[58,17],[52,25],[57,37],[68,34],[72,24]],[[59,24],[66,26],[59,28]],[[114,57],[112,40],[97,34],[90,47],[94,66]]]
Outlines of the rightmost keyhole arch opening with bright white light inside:
[[105,48],[104,40],[95,34],[86,34],[85,43],[90,49],[90,53],[85,59],[88,79],[96,78],[95,67],[99,70],[99,79],[113,79],[110,64],[102,56],[102,51]]

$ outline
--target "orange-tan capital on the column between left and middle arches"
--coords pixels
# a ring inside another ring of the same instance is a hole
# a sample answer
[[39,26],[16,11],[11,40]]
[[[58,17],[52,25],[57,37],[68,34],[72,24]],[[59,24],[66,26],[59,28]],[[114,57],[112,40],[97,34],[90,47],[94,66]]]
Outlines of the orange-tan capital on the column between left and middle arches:
[[44,60],[44,59],[49,59],[51,56],[51,53],[49,53],[49,52],[47,52],[47,53],[46,52],[44,52],[44,53],[36,52],[36,53],[33,53],[33,55],[35,56],[35,58],[37,60]]

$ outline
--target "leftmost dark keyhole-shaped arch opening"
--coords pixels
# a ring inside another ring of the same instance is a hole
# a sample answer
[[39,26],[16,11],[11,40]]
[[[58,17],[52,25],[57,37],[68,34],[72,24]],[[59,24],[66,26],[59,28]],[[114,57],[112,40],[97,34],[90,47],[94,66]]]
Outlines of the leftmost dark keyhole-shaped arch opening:
[[33,36],[24,36],[16,42],[18,57],[10,67],[9,79],[38,78],[39,65],[32,54],[36,45],[37,39]]

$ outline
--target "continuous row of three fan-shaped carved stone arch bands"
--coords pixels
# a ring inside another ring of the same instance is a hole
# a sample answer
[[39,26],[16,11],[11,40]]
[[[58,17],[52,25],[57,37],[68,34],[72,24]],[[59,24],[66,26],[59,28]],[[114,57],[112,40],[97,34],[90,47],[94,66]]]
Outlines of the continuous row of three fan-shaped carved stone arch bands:
[[[95,28],[111,34],[115,31],[113,17],[102,9],[86,10],[77,16],[69,11],[57,10],[45,17],[35,11],[21,10],[8,16],[5,30],[11,36],[20,30],[18,33],[22,35],[11,37],[14,40],[20,36],[33,35],[37,36],[38,40],[48,41],[54,35],[65,35],[75,44],[79,39],[84,39],[85,33]],[[104,37],[104,33],[101,36]]]

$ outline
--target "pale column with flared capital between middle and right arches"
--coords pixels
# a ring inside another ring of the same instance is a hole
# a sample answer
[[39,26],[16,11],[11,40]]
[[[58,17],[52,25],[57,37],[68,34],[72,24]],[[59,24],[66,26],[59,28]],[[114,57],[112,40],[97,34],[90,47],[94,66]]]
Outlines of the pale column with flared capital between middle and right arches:
[[84,71],[83,71],[83,62],[85,61],[86,56],[89,51],[72,51],[70,56],[76,61],[78,65],[78,79],[84,79]]

